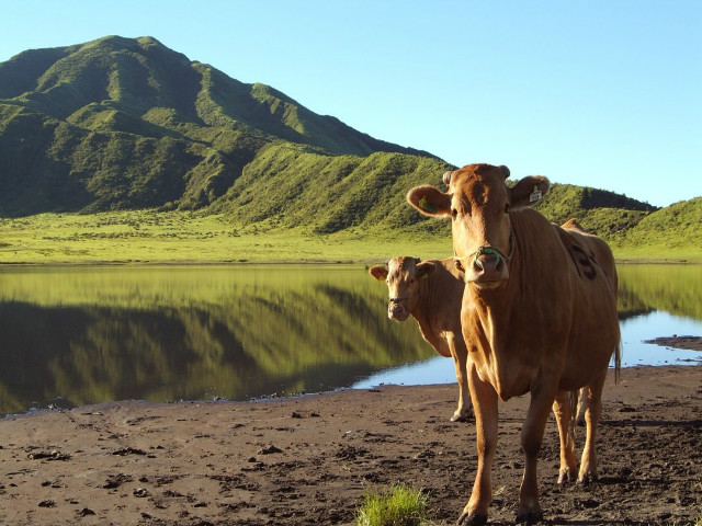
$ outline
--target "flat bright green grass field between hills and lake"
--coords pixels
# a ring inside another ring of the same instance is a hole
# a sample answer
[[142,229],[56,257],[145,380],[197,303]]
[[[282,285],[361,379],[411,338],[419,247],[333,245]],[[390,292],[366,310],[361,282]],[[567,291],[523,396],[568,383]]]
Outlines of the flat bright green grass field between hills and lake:
[[[702,247],[614,245],[627,261],[702,262]],[[395,255],[421,259],[453,253],[445,233],[347,229],[315,235],[262,229],[224,215],[182,211],[42,214],[0,219],[0,264],[101,263],[377,263]]]

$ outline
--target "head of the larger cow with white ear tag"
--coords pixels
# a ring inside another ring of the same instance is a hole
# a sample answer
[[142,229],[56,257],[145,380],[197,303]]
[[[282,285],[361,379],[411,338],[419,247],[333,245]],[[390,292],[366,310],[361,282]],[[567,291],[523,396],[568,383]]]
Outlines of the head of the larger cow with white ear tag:
[[444,193],[433,186],[417,186],[407,201],[427,216],[452,219],[453,250],[465,282],[495,288],[509,278],[514,248],[510,213],[533,206],[548,192],[548,180],[531,175],[514,186],[506,184],[507,167],[468,164],[443,174]]

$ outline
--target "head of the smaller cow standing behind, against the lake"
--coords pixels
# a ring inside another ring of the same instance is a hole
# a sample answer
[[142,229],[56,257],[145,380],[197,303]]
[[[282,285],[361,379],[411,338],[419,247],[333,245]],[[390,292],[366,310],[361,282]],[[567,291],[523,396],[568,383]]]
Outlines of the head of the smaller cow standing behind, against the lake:
[[417,258],[393,258],[387,267],[375,265],[369,272],[378,282],[387,283],[389,301],[387,317],[390,320],[405,321],[419,301],[419,281],[434,272],[430,261]]

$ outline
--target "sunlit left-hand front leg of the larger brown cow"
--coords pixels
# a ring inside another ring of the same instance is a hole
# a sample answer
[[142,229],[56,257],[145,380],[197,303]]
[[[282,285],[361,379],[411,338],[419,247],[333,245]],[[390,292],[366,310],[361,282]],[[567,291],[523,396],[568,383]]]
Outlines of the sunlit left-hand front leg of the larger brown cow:
[[473,363],[468,364],[468,387],[475,411],[478,468],[468,503],[463,508],[460,525],[487,523],[487,508],[492,502],[492,460],[497,448],[497,392],[480,380]]

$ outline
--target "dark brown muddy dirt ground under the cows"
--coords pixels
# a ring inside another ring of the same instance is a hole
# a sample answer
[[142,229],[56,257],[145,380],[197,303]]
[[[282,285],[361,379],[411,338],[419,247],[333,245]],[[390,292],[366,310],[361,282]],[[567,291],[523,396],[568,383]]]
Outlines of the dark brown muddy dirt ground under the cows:
[[[381,387],[257,402],[120,402],[0,420],[0,523],[352,524],[365,492],[422,488],[453,524],[476,466],[457,388]],[[529,397],[500,405],[490,524],[517,511]],[[578,442],[584,432],[579,428]],[[557,432],[540,462],[546,524],[694,524],[702,517],[702,366],[608,379],[600,480],[558,488]]]

